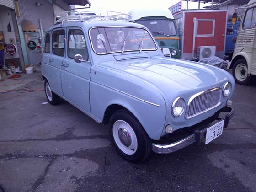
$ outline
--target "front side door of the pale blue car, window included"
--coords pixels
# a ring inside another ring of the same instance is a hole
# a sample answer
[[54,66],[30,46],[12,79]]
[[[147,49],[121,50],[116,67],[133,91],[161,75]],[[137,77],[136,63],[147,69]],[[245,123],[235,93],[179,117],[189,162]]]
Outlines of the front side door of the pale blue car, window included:
[[62,64],[61,84],[63,95],[76,106],[90,112],[89,85],[91,63],[76,63],[75,54],[88,60],[84,32],[81,28],[67,28],[67,51]]

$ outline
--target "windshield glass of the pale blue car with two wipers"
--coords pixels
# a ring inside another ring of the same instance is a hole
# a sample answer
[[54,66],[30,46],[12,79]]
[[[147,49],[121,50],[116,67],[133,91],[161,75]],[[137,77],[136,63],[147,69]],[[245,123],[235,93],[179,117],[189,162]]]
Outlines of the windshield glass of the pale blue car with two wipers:
[[149,32],[135,27],[96,27],[90,30],[91,44],[97,54],[156,50]]

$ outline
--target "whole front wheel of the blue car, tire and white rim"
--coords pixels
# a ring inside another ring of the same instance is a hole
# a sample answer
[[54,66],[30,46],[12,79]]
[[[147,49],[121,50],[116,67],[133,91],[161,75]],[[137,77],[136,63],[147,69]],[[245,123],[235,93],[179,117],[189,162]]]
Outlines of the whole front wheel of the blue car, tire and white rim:
[[139,121],[127,110],[113,113],[110,131],[117,152],[124,159],[140,162],[149,156],[151,140]]

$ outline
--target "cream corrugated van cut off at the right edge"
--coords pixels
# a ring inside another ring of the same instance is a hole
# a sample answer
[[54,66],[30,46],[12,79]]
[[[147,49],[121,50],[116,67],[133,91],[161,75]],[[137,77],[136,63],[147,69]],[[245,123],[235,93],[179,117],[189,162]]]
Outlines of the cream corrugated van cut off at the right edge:
[[248,85],[256,75],[256,0],[245,6],[245,13],[231,61],[235,81]]

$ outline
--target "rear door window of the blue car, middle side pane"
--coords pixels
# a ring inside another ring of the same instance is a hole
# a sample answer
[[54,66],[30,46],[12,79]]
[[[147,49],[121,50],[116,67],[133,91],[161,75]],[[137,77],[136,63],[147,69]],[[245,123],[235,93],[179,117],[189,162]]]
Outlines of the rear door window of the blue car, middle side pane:
[[65,30],[57,30],[52,35],[52,51],[54,55],[64,56]]

